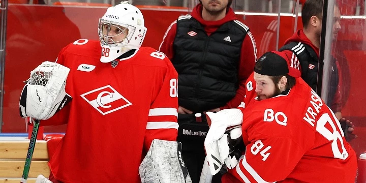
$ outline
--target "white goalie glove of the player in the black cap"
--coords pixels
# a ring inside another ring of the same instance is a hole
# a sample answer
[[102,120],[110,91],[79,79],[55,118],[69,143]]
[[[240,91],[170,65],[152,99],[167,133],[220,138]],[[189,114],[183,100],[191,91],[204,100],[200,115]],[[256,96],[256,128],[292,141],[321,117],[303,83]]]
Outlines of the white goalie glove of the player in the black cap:
[[[207,112],[207,122],[210,126],[204,141],[206,158],[212,175],[217,174],[226,162],[234,164],[229,158],[230,148],[228,146],[226,131],[235,130],[230,133],[231,139],[241,137],[242,112],[240,109],[224,109],[217,113]],[[235,164],[236,165],[236,164]]]

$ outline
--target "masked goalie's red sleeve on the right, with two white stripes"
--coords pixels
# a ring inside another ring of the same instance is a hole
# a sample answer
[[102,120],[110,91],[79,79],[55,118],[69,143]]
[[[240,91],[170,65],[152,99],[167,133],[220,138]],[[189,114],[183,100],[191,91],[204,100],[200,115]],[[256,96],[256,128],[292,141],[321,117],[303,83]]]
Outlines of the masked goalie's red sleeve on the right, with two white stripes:
[[157,80],[156,98],[150,105],[144,140],[144,149],[150,148],[154,139],[175,141],[178,134],[177,123],[177,80],[178,74],[170,60],[165,58],[167,69]]

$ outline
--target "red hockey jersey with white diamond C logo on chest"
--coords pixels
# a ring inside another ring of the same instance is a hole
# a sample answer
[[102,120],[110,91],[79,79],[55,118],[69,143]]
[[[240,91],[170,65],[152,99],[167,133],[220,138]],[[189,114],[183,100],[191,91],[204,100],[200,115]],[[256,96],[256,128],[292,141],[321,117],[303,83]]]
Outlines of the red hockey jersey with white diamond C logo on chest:
[[140,182],[151,141],[176,140],[177,73],[153,48],[111,63],[100,62],[101,50],[98,41],[78,40],[58,55],[70,68],[73,100],[41,123],[68,123],[49,167],[64,182]]

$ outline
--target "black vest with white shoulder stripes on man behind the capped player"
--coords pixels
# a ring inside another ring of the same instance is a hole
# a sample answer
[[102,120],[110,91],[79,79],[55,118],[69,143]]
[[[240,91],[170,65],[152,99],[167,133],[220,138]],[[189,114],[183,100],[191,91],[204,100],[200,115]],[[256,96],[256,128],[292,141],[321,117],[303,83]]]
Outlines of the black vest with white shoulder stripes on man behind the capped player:
[[[301,42],[290,42],[280,48],[280,51],[283,50],[290,50],[296,54],[301,66],[301,78],[316,91],[319,57],[313,48]],[[325,101],[329,107],[331,107],[339,83],[338,67],[334,57],[331,58],[331,62],[328,100]]]

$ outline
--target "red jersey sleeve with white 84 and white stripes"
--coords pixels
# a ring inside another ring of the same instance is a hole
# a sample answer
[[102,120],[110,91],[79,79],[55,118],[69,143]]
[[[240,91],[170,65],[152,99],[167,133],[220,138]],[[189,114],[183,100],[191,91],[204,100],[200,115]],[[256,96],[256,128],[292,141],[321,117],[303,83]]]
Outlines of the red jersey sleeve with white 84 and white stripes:
[[230,169],[229,173],[240,182],[283,180],[291,173],[304,152],[291,138],[261,135],[260,139],[247,145],[245,155],[240,157],[236,167]]

